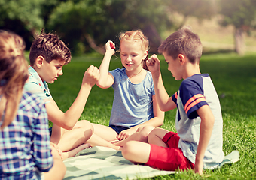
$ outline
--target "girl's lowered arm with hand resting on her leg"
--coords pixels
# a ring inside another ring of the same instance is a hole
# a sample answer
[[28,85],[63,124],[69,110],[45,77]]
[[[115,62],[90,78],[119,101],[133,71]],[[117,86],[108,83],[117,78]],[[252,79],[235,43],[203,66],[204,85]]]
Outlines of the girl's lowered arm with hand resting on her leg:
[[139,129],[139,127],[144,127],[144,126],[160,127],[161,125],[163,125],[164,112],[160,110],[160,108],[157,104],[156,95],[153,95],[152,98],[153,98],[154,118],[151,118],[150,120],[148,120],[142,124],[131,127],[130,129],[123,130],[122,132],[119,133],[119,135],[117,136],[117,139],[123,140],[123,139],[128,138],[133,133],[136,133],[136,131]]

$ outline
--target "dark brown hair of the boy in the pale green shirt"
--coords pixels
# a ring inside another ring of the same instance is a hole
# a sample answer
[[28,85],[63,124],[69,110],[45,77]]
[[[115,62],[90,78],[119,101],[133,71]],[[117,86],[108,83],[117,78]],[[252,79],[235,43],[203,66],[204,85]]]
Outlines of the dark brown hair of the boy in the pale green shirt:
[[61,59],[68,64],[71,60],[71,52],[69,48],[59,40],[56,34],[41,33],[35,36],[29,52],[30,65],[35,64],[35,59],[38,56],[43,56],[50,63],[53,59]]

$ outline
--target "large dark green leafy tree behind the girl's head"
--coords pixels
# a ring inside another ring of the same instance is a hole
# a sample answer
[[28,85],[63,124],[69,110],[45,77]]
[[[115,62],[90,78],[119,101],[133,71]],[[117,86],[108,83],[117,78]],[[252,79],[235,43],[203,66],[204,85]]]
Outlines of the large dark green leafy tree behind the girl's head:
[[[50,16],[48,29],[53,29],[72,51],[87,46],[103,53],[107,40],[116,40],[120,31],[142,29],[157,52],[161,43],[159,31],[171,26],[160,0],[87,0],[62,2]],[[80,50],[79,50],[80,49]]]

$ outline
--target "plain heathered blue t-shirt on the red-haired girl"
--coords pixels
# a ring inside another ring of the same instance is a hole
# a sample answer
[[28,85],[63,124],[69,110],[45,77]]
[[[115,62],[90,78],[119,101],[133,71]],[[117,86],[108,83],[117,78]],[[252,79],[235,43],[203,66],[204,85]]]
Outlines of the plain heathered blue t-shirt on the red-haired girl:
[[134,127],[154,118],[153,99],[154,83],[151,72],[139,84],[130,82],[126,69],[109,71],[114,77],[114,101],[110,125]]

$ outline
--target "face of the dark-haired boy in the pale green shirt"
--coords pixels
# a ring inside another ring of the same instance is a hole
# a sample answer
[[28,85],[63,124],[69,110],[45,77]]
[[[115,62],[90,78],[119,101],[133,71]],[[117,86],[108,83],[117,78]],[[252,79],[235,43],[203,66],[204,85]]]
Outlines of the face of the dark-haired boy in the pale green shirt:
[[43,81],[46,81],[47,83],[54,83],[54,81],[63,74],[62,67],[64,64],[65,61],[62,59],[53,59],[50,63],[43,60],[43,65],[41,66],[41,70],[38,74]]

